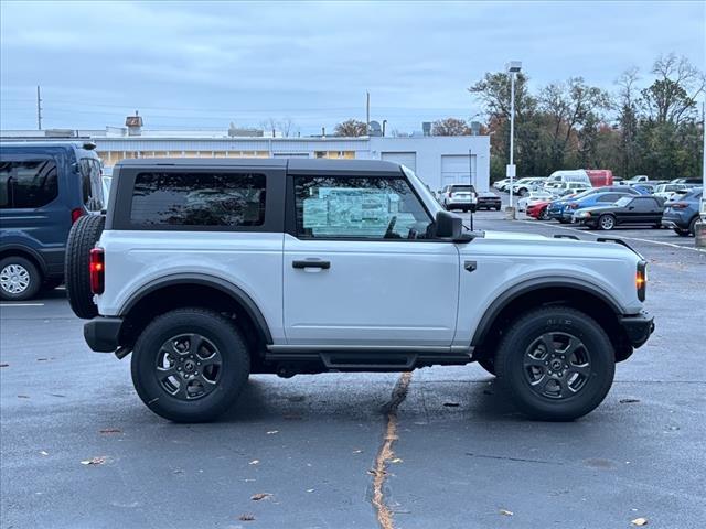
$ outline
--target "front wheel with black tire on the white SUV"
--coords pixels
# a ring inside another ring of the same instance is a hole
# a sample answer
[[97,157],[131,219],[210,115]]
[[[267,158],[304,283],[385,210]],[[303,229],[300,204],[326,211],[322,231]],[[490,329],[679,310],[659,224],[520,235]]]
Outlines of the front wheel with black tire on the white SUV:
[[[547,335],[550,345],[543,345],[548,344]],[[563,358],[569,339],[580,345]],[[554,306],[534,310],[511,324],[498,349],[495,369],[501,388],[523,413],[545,421],[571,421],[606,398],[616,358],[608,335],[595,320],[575,309]]]

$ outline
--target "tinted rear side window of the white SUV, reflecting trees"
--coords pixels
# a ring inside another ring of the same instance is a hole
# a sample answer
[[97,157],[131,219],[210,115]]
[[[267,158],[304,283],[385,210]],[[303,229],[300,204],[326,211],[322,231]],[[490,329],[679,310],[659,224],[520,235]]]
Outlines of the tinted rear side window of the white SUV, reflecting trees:
[[131,222],[139,226],[261,226],[266,177],[250,173],[140,173]]

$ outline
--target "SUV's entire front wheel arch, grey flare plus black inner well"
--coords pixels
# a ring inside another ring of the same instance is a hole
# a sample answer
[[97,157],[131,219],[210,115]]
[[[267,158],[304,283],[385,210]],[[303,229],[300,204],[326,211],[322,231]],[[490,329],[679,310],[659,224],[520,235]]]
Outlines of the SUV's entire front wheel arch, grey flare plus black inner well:
[[528,310],[547,305],[571,306],[591,316],[610,336],[617,357],[630,347],[619,322],[623,311],[610,293],[586,280],[537,278],[511,287],[490,304],[471,339],[474,356],[494,354],[506,325]]

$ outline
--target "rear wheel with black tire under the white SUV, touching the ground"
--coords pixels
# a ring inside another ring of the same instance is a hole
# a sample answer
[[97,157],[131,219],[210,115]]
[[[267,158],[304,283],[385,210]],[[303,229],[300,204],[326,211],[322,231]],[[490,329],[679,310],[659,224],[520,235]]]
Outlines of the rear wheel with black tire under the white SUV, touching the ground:
[[[202,338],[200,355],[190,350],[191,339],[180,341],[194,334]],[[245,344],[234,323],[215,311],[179,309],[168,312],[152,321],[135,344],[132,384],[142,402],[164,419],[174,422],[212,421],[233,406],[247,382],[250,357]],[[164,365],[165,345],[172,346],[172,352],[180,355],[179,360],[173,357],[173,365],[171,360]],[[199,375],[199,369],[203,369],[199,367],[200,361],[213,357],[220,361],[217,369],[214,367],[207,376],[205,370]],[[167,378],[165,373],[159,373],[158,363],[173,371],[173,376]],[[191,374],[190,380],[183,378],[186,373]],[[194,390],[192,393],[190,388]],[[200,389],[204,392],[195,395]]]

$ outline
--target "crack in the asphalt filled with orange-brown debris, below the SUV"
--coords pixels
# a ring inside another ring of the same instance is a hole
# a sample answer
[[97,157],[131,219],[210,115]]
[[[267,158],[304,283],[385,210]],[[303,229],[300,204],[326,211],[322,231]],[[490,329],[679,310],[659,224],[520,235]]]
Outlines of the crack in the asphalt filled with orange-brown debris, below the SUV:
[[371,471],[371,474],[374,476],[372,504],[377,516],[377,522],[382,529],[394,529],[395,527],[393,522],[393,511],[385,503],[383,487],[385,486],[385,479],[387,478],[387,465],[395,456],[393,444],[398,439],[397,409],[407,398],[410,380],[411,373],[403,373],[393,388],[393,395],[389,402],[387,402],[382,409],[387,419],[385,436],[383,439],[383,444],[377,451],[377,456],[375,457],[375,467]]

